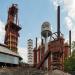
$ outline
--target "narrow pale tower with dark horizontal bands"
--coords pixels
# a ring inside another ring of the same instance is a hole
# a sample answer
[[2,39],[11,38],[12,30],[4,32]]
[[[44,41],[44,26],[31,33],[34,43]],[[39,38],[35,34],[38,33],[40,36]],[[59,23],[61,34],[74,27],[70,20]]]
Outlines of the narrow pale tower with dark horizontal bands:
[[33,65],[33,40],[28,40],[28,64]]

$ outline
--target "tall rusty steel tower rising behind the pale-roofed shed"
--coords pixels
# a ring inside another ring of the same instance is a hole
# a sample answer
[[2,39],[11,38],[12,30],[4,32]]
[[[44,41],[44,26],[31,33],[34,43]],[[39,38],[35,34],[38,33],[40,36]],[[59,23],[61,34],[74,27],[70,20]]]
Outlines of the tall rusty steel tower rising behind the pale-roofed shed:
[[13,52],[17,52],[19,30],[21,27],[18,24],[18,8],[17,4],[12,4],[8,10],[8,19],[5,26],[5,41],[4,44]]

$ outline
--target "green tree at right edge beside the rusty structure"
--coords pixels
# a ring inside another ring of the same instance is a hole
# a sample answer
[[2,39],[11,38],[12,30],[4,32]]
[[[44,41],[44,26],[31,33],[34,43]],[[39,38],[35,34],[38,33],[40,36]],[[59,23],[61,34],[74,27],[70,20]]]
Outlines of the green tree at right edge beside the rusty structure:
[[68,59],[65,59],[64,70],[75,70],[75,41],[72,42],[72,55]]

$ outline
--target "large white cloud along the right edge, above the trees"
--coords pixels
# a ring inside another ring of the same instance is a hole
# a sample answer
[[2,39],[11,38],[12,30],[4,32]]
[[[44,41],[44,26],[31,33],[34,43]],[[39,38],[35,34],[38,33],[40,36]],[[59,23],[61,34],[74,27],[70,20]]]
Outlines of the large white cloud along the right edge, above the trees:
[[75,0],[64,0],[64,6],[67,10],[65,17],[65,24],[72,32],[72,41],[75,40]]

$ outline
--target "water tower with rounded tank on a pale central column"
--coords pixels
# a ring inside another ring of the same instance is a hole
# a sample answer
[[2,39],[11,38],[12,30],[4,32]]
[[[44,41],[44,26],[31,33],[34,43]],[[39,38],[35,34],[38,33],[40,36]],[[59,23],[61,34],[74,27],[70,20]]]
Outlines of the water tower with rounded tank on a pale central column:
[[[44,22],[41,27],[41,37],[45,38],[45,52],[48,50],[48,37],[51,36],[51,27],[49,22]],[[46,66],[48,66],[48,62],[46,60]]]

